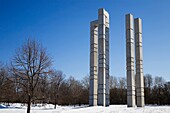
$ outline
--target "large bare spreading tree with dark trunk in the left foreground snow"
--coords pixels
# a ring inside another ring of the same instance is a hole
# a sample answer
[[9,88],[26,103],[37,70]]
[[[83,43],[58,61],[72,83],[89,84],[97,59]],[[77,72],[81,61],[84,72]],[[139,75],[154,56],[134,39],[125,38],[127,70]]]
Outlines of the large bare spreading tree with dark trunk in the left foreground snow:
[[27,96],[27,113],[30,113],[38,81],[41,76],[49,73],[51,64],[51,58],[47,55],[45,48],[30,39],[16,51],[12,59],[12,72]]

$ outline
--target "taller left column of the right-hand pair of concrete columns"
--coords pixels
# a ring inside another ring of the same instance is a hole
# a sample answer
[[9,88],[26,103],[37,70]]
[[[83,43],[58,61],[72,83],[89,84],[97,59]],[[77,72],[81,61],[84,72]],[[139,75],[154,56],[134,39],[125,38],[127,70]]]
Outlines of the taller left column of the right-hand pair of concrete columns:
[[135,106],[134,77],[134,21],[133,15],[126,15],[126,73],[127,73],[127,106]]

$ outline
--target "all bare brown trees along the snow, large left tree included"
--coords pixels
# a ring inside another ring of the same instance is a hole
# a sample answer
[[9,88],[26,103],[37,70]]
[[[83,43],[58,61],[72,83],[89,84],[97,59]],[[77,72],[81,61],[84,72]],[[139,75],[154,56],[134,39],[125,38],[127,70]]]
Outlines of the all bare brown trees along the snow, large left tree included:
[[[110,104],[127,103],[125,77],[110,76]],[[170,104],[170,82],[144,76],[146,104]],[[52,58],[35,40],[28,39],[8,65],[0,62],[0,102],[82,105],[89,101],[89,76],[77,80],[52,67]]]

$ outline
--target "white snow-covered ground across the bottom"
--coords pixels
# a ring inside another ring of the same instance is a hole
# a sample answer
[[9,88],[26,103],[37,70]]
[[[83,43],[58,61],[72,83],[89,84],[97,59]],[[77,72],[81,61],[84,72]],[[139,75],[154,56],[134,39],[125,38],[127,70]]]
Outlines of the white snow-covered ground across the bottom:
[[[0,104],[0,113],[25,113],[26,106],[21,104]],[[32,106],[31,113],[170,113],[170,106],[145,106],[144,108],[127,108],[126,105],[110,105],[109,107],[87,106],[54,106],[51,104]]]

